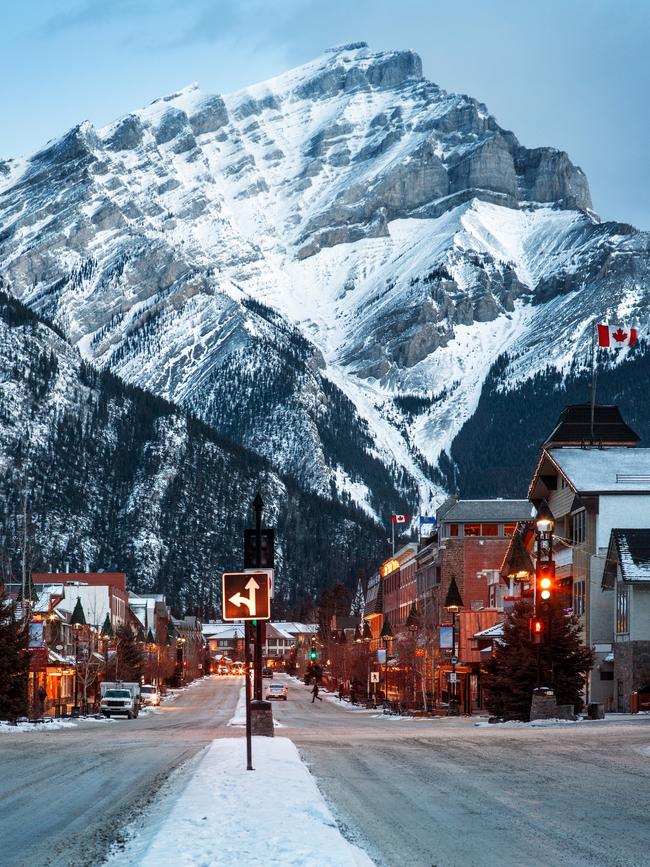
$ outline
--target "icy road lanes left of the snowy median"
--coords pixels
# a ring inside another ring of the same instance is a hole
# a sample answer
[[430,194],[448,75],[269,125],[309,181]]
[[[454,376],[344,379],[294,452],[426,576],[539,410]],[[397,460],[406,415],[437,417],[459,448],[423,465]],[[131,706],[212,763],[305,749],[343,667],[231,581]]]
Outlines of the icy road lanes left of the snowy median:
[[[0,865],[101,863],[169,774],[235,734],[241,677],[212,678],[137,720],[0,737]],[[239,732],[236,732],[239,734]]]

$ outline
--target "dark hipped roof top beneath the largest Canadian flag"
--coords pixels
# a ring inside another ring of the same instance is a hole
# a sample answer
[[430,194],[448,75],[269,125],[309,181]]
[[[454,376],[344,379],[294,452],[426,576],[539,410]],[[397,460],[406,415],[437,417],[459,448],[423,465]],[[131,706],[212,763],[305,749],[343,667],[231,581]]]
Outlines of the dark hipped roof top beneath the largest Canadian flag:
[[595,406],[593,440],[591,436],[591,404],[565,406],[557,424],[544,442],[545,448],[558,446],[599,445],[634,446],[638,437],[623,420],[617,406]]

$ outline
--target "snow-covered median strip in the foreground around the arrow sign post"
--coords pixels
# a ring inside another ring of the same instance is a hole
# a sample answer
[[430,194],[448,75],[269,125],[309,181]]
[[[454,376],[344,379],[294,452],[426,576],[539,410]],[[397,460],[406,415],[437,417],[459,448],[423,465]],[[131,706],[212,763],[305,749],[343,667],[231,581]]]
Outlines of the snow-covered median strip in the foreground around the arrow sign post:
[[[219,738],[158,827],[112,863],[138,851],[141,867],[372,867],[339,831],[314,778],[288,738],[253,739],[255,771],[246,771],[245,738]],[[131,850],[131,852],[129,851]]]

